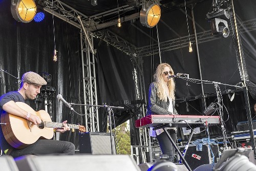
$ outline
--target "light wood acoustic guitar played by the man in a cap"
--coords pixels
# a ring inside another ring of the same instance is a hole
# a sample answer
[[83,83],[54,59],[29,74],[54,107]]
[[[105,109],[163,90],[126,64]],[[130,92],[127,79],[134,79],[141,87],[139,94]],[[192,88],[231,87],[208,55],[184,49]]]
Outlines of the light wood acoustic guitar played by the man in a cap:
[[[28,104],[16,102],[19,108],[22,108],[28,113],[38,116],[42,122],[35,125],[33,122],[25,118],[18,117],[9,113],[3,113],[1,122],[3,134],[7,142],[14,148],[24,148],[33,144],[38,139],[51,139],[53,137],[53,127],[60,128],[63,123],[52,122],[50,115],[43,110],[34,111]],[[68,124],[68,123],[67,123]],[[70,129],[78,129],[80,132],[86,132],[82,125],[68,124]]]

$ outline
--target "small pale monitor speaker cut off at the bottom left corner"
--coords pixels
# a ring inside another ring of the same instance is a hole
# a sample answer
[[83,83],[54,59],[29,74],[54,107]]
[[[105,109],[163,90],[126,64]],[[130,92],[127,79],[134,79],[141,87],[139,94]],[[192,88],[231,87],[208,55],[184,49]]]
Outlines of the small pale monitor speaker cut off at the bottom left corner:
[[11,156],[0,156],[0,170],[18,171],[18,167]]

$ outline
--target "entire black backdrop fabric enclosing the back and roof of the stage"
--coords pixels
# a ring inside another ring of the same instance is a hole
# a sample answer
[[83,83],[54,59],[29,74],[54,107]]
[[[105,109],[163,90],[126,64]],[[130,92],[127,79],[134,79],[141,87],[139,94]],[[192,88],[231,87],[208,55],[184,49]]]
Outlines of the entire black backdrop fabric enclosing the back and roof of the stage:
[[[83,103],[79,45],[80,30],[54,17],[55,42],[58,51],[58,61],[54,62],[52,15],[47,13],[46,19],[41,23],[17,23],[12,18],[10,4],[11,2],[8,0],[0,1],[0,68],[19,78],[27,71],[50,73],[53,75],[53,79],[49,86],[56,88],[56,95],[61,94],[69,102]],[[198,3],[194,9],[196,22],[204,30],[210,29],[209,24],[205,21],[205,14],[208,12],[210,4],[211,1]],[[254,16],[256,16],[256,2],[253,0],[236,0],[234,1],[234,7],[240,21],[254,19]],[[190,9],[187,10],[190,14]],[[181,14],[180,10],[170,11],[162,17],[165,22],[173,22],[173,25],[170,24],[170,27],[175,29],[181,36],[187,35],[185,16]],[[140,26],[138,20],[135,25]],[[193,27],[191,27],[190,20],[189,26],[190,34],[193,34]],[[122,25],[120,32],[123,31],[123,38],[126,37],[135,41],[137,46],[150,44],[150,39],[141,37],[138,31],[130,32],[129,27],[131,27],[129,22]],[[170,39],[175,38],[173,33],[168,29],[166,30],[161,23],[159,23],[158,28],[160,30],[160,41],[166,40],[167,37]],[[196,28],[198,32],[202,32],[201,28],[198,28],[198,26]],[[110,29],[117,30],[119,28],[114,27]],[[147,31],[148,34],[154,32],[154,37],[156,37],[155,28],[151,30],[147,29]],[[240,35],[249,78],[251,81],[256,82],[256,76],[254,74],[256,72],[254,67],[256,63],[254,55],[256,42],[254,37],[256,32],[252,29],[250,32],[241,33]],[[95,40],[99,104],[118,100],[134,100],[133,67],[130,57],[112,46],[106,45],[104,42],[98,46],[98,41],[98,39]],[[207,42],[199,42],[198,48],[203,79],[227,84],[241,82],[231,36]],[[193,53],[189,53],[186,47],[163,52],[161,53],[162,62],[170,63],[175,73],[187,73],[191,78],[199,78],[195,45],[193,45],[193,50]],[[147,90],[152,81],[152,71],[155,71],[159,64],[159,55],[144,57],[143,60],[145,89]],[[3,79],[0,79],[1,94],[17,90],[17,80],[15,78],[4,72],[1,72],[0,75],[3,77]],[[176,79],[178,104],[176,108],[180,114],[200,114],[202,113],[201,100],[188,97],[199,96],[201,94],[201,86],[194,83],[188,84],[189,86],[186,86],[185,81]],[[211,85],[207,85],[204,88],[207,94],[215,93],[214,87]],[[223,91],[228,88],[221,86]],[[238,91],[236,89],[234,90]],[[55,120],[62,121],[67,119],[70,123],[83,123],[82,117],[67,110],[66,106],[60,105],[55,100],[55,97],[53,99]],[[182,101],[178,99],[186,100]],[[224,95],[223,99],[229,111],[227,131],[231,132],[236,130],[236,123],[238,121],[246,120],[244,98],[241,93],[237,92],[232,102],[228,100],[227,95]],[[209,96],[207,97],[207,104],[215,100],[215,96]],[[251,99],[252,102],[254,101]],[[189,110],[186,108],[187,105],[189,106]],[[84,112],[79,106],[75,106],[74,109],[81,114]],[[100,116],[102,118],[102,124],[105,125],[106,117],[104,111],[100,112]],[[227,118],[226,114],[225,117]],[[134,129],[133,125],[131,127]],[[101,126],[101,130],[104,130],[104,126]],[[212,134],[217,135],[219,131],[217,130]],[[133,130],[131,132],[135,131]],[[76,147],[78,147],[77,134],[71,132],[61,134],[60,139],[74,142]],[[137,142],[136,140],[132,140],[132,143],[136,144]]]

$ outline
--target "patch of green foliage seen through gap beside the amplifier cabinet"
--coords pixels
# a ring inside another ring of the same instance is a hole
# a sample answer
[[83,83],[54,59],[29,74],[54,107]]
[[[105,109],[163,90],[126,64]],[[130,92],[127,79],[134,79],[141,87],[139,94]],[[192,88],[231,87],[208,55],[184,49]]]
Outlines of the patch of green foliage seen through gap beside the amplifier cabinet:
[[127,126],[126,122],[116,128],[116,139],[119,147],[119,154],[131,155],[130,127]]

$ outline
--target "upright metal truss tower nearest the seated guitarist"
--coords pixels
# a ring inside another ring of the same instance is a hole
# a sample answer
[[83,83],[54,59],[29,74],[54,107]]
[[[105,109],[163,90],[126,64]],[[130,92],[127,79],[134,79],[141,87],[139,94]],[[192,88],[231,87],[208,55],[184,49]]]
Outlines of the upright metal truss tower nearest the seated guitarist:
[[[93,46],[92,33],[89,38]],[[89,42],[83,33],[80,33],[80,42],[84,104],[98,105],[94,54],[90,52]],[[87,132],[99,132],[99,115],[97,109],[96,106],[84,106]]]

